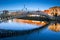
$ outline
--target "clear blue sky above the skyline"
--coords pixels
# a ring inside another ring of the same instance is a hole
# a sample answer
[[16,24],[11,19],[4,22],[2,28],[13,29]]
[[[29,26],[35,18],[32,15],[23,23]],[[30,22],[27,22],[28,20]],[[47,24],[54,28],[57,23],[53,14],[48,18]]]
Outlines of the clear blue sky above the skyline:
[[21,10],[24,4],[28,10],[45,10],[60,6],[60,0],[0,0],[0,10]]

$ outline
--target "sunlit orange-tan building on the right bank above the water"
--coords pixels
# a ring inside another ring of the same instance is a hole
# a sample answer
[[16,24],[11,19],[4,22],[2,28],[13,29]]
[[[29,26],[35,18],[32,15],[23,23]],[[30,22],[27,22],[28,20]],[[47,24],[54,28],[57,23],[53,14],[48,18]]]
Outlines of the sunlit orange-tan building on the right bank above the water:
[[60,6],[51,7],[48,10],[44,10],[44,12],[51,16],[60,16]]

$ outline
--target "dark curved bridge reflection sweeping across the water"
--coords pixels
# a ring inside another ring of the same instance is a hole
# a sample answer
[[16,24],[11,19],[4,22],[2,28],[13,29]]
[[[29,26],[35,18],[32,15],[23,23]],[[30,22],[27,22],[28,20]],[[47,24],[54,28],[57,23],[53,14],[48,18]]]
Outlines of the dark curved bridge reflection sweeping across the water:
[[[0,30],[0,38],[5,38],[5,37],[12,37],[12,36],[18,36],[18,35],[25,35],[25,34],[30,34],[34,32],[38,32],[40,30],[43,31],[49,24],[42,26],[40,28],[36,28],[33,30],[27,30],[27,31],[14,31],[14,30]],[[2,32],[1,32],[2,31]]]

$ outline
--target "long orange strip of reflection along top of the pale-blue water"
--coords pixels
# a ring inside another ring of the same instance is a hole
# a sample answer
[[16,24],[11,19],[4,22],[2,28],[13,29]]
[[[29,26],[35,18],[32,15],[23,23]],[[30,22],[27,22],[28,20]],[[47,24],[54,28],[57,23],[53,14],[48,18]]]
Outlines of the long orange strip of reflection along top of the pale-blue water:
[[32,24],[32,25],[37,25],[37,26],[47,24],[47,22],[44,22],[44,21],[23,20],[23,19],[13,19],[13,22]]

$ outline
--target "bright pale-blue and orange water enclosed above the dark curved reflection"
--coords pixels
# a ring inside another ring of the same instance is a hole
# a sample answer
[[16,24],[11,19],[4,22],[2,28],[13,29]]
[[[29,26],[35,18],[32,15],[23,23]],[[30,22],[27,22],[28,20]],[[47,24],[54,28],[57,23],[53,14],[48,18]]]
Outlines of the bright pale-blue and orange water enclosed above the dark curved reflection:
[[5,30],[32,30],[46,25],[44,21],[11,19],[0,23],[0,29]]

